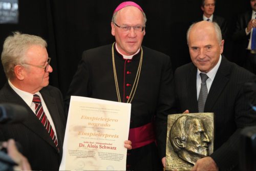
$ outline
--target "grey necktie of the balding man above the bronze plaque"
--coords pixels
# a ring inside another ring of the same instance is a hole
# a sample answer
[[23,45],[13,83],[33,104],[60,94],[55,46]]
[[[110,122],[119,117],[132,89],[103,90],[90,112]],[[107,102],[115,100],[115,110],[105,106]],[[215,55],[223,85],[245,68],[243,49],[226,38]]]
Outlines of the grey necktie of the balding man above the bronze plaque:
[[198,97],[198,111],[199,113],[202,113],[204,112],[204,104],[208,95],[206,80],[209,77],[204,73],[200,73],[200,77],[201,77],[202,83],[201,83],[201,89]]

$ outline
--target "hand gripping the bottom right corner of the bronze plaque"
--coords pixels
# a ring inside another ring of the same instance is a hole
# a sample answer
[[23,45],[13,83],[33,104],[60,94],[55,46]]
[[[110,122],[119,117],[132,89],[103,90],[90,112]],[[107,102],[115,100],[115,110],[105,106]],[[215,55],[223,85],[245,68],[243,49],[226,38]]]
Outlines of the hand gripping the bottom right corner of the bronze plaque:
[[219,170],[214,159],[211,157],[204,157],[199,159],[191,170]]

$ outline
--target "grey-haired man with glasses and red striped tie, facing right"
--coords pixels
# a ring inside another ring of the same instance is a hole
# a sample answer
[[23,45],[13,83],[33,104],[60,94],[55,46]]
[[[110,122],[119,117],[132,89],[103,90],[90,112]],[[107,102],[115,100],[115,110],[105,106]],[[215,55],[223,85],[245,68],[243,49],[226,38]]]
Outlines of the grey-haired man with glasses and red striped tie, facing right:
[[44,39],[18,32],[6,38],[2,64],[8,78],[0,103],[23,105],[29,111],[22,123],[0,125],[0,141],[13,138],[22,145],[33,170],[58,170],[66,116],[62,95],[48,86],[53,71]]

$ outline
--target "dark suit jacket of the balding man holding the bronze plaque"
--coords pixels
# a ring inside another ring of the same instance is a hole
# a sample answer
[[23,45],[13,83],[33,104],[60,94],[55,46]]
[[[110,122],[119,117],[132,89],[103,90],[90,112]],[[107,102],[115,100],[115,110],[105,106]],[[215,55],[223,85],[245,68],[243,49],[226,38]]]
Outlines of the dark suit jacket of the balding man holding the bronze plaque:
[[[197,67],[188,63],[175,72],[175,88],[180,112],[198,112]],[[256,82],[256,76],[229,62],[223,55],[209,90],[204,112],[215,114],[214,153],[210,156],[220,170],[238,169],[239,133],[245,126],[256,124],[256,95],[244,89],[245,82]]]

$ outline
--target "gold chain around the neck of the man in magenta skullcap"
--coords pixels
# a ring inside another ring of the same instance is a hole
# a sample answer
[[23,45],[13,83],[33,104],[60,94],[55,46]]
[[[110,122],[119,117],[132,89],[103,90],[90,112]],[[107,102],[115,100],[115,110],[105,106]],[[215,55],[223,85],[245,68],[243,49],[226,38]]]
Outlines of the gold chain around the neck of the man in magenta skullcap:
[[[115,84],[116,84],[116,94],[117,94],[117,99],[118,102],[121,102],[121,97],[120,97],[120,92],[119,92],[119,88],[118,88],[118,81],[117,81],[117,75],[116,75],[116,65],[115,65],[115,56],[114,56],[114,44],[112,45],[112,61],[113,61],[113,70],[114,70],[114,78],[115,78]],[[141,71],[141,66],[142,66],[142,58],[143,58],[143,50],[142,47],[141,48],[141,55],[140,55],[140,62],[139,62],[139,66],[138,66],[138,70],[137,70],[137,74],[133,83],[133,88],[132,91],[130,93],[129,99],[127,100],[127,103],[132,103],[133,97],[135,95],[137,86],[138,86],[138,82],[139,82],[139,78],[140,78],[140,71]]]

